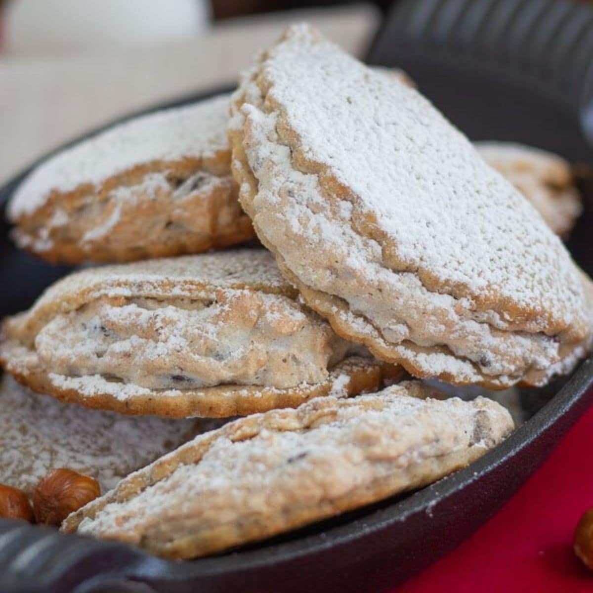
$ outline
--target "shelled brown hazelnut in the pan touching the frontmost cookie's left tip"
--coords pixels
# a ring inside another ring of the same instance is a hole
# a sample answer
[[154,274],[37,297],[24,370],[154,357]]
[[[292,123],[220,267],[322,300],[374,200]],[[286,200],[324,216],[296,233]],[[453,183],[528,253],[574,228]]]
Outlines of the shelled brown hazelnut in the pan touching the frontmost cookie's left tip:
[[33,493],[33,509],[38,523],[60,525],[81,506],[101,494],[97,480],[68,468],[51,470]]

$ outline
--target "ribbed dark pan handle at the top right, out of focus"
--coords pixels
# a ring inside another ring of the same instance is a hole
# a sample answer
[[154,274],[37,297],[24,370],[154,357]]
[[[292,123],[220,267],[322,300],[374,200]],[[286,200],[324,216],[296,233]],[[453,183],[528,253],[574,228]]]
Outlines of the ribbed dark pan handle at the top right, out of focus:
[[576,114],[593,139],[593,7],[569,0],[400,0],[387,21],[391,39],[384,42],[413,43],[431,56],[442,52],[443,59],[514,76]]

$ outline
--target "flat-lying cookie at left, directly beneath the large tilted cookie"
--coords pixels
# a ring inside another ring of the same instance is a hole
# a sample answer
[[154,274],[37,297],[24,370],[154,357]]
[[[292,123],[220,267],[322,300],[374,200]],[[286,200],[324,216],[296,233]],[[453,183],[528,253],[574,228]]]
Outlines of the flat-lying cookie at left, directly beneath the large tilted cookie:
[[382,365],[297,297],[264,250],[91,268],[5,320],[0,359],[34,391],[125,414],[226,417],[376,389]]

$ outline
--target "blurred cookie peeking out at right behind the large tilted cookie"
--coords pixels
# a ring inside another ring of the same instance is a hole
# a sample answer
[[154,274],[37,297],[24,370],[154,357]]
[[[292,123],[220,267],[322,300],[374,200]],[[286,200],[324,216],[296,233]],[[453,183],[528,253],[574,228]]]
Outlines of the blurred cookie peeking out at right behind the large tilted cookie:
[[568,237],[582,212],[568,161],[513,142],[476,142],[476,148],[490,167],[527,197],[557,235]]

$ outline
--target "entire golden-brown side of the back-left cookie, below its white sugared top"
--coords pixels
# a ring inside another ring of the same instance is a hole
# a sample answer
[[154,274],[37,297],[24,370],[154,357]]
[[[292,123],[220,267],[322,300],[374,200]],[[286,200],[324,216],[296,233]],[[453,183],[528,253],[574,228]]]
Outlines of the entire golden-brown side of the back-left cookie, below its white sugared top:
[[[226,151],[153,161],[109,177],[100,187],[53,190],[39,208],[15,218],[13,237],[50,263],[70,264],[127,262],[243,243],[254,232],[237,202],[228,161]],[[192,189],[192,180],[201,186]]]

